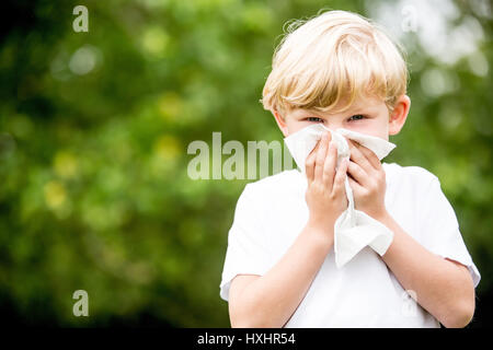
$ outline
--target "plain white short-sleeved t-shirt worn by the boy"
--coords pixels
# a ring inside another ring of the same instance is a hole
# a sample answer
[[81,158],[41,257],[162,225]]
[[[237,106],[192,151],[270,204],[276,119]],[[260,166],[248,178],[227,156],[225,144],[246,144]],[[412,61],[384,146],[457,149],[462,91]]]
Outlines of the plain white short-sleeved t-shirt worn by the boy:
[[[383,168],[389,213],[429,252],[467,266],[478,285],[480,273],[438,178],[416,166],[383,163]],[[298,170],[245,186],[228,236],[220,283],[223,300],[228,301],[237,275],[266,273],[294,243],[308,221],[306,189],[307,179]],[[286,327],[439,327],[410,294],[371,248],[341,269],[332,248]]]

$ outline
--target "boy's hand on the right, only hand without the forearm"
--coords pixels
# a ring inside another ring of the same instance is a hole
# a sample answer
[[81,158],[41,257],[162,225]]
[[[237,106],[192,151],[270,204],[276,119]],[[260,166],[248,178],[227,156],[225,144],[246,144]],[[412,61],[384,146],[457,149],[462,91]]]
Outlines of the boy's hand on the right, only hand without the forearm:
[[347,174],[353,189],[355,209],[379,220],[387,214],[386,172],[378,156],[366,147],[348,140],[351,161]]

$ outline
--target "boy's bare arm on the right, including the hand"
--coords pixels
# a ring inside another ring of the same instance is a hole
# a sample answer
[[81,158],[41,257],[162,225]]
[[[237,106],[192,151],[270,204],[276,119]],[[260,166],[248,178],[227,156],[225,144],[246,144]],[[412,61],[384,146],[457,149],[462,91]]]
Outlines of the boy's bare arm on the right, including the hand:
[[368,149],[351,143],[348,173],[355,205],[393,233],[382,259],[417,303],[446,327],[465,327],[474,313],[474,287],[468,268],[444,259],[411,237],[385,208],[386,178],[378,158]]

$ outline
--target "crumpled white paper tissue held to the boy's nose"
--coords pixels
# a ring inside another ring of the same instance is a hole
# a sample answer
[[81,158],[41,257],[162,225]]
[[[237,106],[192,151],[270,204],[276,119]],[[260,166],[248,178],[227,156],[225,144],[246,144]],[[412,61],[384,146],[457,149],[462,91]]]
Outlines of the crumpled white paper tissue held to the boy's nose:
[[[395,148],[395,144],[377,137],[347,129],[332,131],[322,124],[313,124],[284,139],[291,156],[303,174],[306,172],[306,159],[317,145],[324,130],[331,132],[331,142],[334,142],[337,147],[337,166],[344,158],[349,158],[349,145],[345,138],[355,140],[368,148],[379,160],[382,160]],[[334,254],[337,268],[343,267],[366,246],[371,247],[382,256],[393,240],[392,231],[379,221],[354,208],[353,190],[347,177],[344,185],[348,205],[334,224]]]

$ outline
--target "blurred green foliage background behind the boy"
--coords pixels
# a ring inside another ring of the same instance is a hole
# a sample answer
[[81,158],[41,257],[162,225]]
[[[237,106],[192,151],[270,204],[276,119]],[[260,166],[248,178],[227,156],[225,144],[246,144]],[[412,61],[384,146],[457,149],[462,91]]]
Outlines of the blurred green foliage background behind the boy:
[[[89,32],[76,33],[76,5]],[[251,180],[192,180],[193,140],[278,140],[259,103],[285,23],[322,9],[386,25],[411,114],[388,162],[436,174],[492,325],[492,8],[486,0],[4,0],[0,313],[9,325],[228,327],[219,282]],[[89,293],[74,317],[72,293]]]

